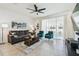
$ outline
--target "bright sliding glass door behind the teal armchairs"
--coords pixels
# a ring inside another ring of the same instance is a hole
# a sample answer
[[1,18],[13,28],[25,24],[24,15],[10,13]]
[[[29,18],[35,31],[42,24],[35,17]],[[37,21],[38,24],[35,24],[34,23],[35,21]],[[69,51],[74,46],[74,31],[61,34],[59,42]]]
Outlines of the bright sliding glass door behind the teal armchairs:
[[53,31],[53,39],[64,39],[64,16],[42,20],[44,35]]

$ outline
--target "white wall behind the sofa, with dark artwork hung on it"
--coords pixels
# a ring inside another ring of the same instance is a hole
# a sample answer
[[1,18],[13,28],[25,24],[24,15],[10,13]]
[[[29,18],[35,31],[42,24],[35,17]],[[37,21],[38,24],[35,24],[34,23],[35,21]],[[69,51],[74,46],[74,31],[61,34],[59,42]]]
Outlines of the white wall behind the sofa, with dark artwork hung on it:
[[1,35],[2,34],[1,24],[6,23],[6,24],[9,25],[8,28],[4,29],[4,36],[3,36],[4,41],[7,41],[7,34],[8,34],[8,31],[10,30],[10,28],[11,28],[11,22],[12,21],[26,22],[27,23],[27,29],[30,29],[30,25],[34,24],[33,19],[31,19],[30,17],[24,16],[24,15],[21,15],[21,14],[17,14],[13,11],[10,11],[10,10],[5,10],[5,9],[0,8],[0,40],[1,40],[1,36],[2,36]]

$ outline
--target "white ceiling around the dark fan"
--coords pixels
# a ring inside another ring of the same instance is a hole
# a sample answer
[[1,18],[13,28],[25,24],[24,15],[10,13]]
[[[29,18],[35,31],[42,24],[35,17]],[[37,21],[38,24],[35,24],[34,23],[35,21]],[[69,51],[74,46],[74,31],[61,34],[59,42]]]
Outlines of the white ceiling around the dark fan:
[[36,13],[30,13],[30,10],[26,8],[34,9],[33,3],[2,3],[0,7],[6,8],[8,10],[16,11],[18,13],[22,13],[24,15],[29,15],[32,17],[44,17],[51,14],[56,14],[60,12],[72,11],[74,3],[38,3],[36,4],[38,8],[46,8],[44,10],[44,14],[36,15]]

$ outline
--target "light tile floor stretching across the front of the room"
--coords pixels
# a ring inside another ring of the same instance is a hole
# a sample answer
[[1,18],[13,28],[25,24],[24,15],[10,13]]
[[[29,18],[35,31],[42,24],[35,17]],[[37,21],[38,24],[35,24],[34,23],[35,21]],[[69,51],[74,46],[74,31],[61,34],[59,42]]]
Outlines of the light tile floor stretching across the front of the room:
[[24,42],[0,45],[0,56],[67,56],[64,40],[40,40],[28,47]]

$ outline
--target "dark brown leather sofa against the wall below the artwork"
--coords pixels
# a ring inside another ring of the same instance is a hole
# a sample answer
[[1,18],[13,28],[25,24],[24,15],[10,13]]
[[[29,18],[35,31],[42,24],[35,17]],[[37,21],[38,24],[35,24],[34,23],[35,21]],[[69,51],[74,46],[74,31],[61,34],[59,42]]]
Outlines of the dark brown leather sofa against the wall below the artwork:
[[8,42],[15,44],[24,41],[24,37],[28,34],[28,30],[9,31]]

